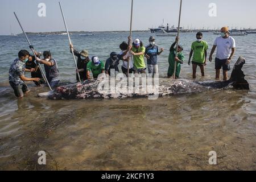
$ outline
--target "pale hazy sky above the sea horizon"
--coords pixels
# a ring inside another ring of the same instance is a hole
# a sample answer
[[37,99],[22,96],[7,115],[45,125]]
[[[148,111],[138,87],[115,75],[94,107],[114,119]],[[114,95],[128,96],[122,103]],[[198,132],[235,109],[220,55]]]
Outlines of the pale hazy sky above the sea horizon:
[[[29,32],[65,30],[56,0],[1,0],[0,35],[20,33],[13,11]],[[46,4],[46,17],[38,16],[38,4]],[[62,0],[70,31],[129,30],[131,0]],[[162,23],[177,26],[179,0],[134,0],[133,30],[146,30]],[[216,3],[217,16],[210,17],[209,4]],[[181,26],[256,28],[255,0],[183,0]],[[10,28],[11,27],[11,28]]]

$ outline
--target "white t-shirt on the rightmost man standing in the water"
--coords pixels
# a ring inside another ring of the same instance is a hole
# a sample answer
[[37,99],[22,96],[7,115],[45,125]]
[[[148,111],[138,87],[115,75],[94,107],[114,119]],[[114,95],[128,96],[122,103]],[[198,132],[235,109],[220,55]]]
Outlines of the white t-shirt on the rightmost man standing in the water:
[[226,39],[220,36],[215,39],[214,46],[217,46],[216,57],[218,59],[229,59],[232,48],[236,47],[236,41],[231,36]]

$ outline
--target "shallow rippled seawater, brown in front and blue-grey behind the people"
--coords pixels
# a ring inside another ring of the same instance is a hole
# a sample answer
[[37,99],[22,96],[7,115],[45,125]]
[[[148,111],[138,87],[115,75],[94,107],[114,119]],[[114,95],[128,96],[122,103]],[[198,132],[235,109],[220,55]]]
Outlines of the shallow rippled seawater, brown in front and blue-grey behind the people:
[[[148,35],[139,33],[137,36],[146,40]],[[99,51],[108,57],[111,50],[106,43],[114,36],[118,36],[119,42],[126,40],[125,34],[102,34],[88,39],[105,41],[100,43],[102,49]],[[183,36],[187,55],[193,35]],[[18,101],[8,84],[7,69],[16,52],[24,46],[20,43],[6,52],[6,47],[14,46],[15,40],[5,37],[6,42],[0,43],[3,65],[0,83],[0,169],[255,170],[256,50],[255,42],[249,36],[254,35],[237,38],[236,53],[236,59],[238,55],[246,57],[243,71],[250,83],[249,92],[208,90],[154,101],[147,98],[51,101],[36,97],[38,93],[46,92],[47,88],[35,88],[32,83],[28,84],[32,92]],[[213,35],[205,37],[209,43],[213,42]],[[50,36],[49,39],[56,47],[67,49],[57,36]],[[32,40],[38,41],[36,44],[41,48],[47,42],[37,37]],[[82,45],[79,37],[73,35],[73,40]],[[159,38],[158,44],[168,49],[171,41]],[[250,49],[244,48],[247,44],[250,44]],[[93,43],[88,46],[92,51],[97,47]],[[118,51],[118,46],[115,47]],[[75,81],[71,71],[72,56],[64,51],[61,56],[57,49],[53,49],[57,59],[65,57],[59,64],[62,81]],[[10,55],[13,56],[11,59]],[[163,76],[168,65],[167,56],[165,52],[159,57]],[[7,59],[8,62],[3,61]],[[70,63],[68,59],[71,59]],[[181,76],[190,78],[191,68],[183,65]],[[214,64],[209,63],[207,76],[200,78],[198,75],[197,80],[213,78]],[[46,151],[46,166],[38,165],[39,151]],[[217,152],[216,166],[209,165],[210,151]]]

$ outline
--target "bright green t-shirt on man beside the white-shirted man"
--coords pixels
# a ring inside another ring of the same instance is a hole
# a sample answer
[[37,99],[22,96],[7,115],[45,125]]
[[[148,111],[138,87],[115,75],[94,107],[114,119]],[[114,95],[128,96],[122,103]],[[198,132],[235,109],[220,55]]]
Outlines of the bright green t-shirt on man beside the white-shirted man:
[[201,42],[193,42],[191,49],[193,50],[193,61],[204,63],[205,51],[208,50],[208,44],[204,40]]

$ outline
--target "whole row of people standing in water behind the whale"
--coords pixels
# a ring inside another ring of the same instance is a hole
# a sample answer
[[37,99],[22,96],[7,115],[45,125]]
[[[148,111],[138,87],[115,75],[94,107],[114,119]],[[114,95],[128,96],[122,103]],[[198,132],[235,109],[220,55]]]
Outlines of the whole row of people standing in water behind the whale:
[[[205,65],[207,65],[207,50],[208,43],[203,40],[203,34],[198,32],[196,34],[196,41],[192,43],[191,52],[189,54],[188,64],[193,69],[193,78],[196,78],[197,66],[200,67],[201,75],[204,76]],[[89,52],[83,50],[77,51],[73,45],[70,45],[70,51],[77,57],[77,74],[79,74],[81,81],[90,80],[90,73],[93,78],[97,78],[101,73],[107,75],[115,74],[111,73],[111,70],[115,72],[119,71],[119,64],[122,61],[122,72],[126,76],[131,73],[148,73],[152,75],[158,73],[158,56],[164,51],[155,44],[155,38],[151,36],[149,38],[149,45],[144,47],[140,39],[135,39],[133,44],[129,46],[128,43],[122,42],[119,46],[121,52],[112,52],[110,57],[106,60],[106,63],[100,60],[97,56],[89,57]],[[179,78],[181,71],[181,64],[184,64],[183,47],[177,45],[179,37],[176,37],[175,42],[170,47],[170,53],[168,57],[168,78],[174,77],[175,62],[176,72],[175,78]],[[129,42],[131,38],[129,37]],[[175,48],[175,46],[177,46]],[[34,47],[30,46],[34,50]],[[235,40],[229,36],[228,27],[221,28],[221,36],[216,38],[213,44],[212,51],[210,52],[209,61],[212,61],[212,56],[217,48],[217,54],[215,59],[216,80],[220,80],[220,70],[223,69],[224,81],[228,80],[228,71],[230,70],[230,62],[236,51]],[[177,50],[177,53],[176,53]],[[34,51],[35,52],[35,51]],[[59,69],[57,61],[52,57],[50,51],[43,52],[43,59],[41,53],[35,52],[36,56],[30,55],[26,50],[21,50],[18,53],[18,58],[11,64],[9,70],[9,82],[14,89],[16,97],[22,98],[24,94],[29,92],[26,81],[34,81],[36,86],[45,84],[42,73],[38,64],[43,64],[46,72],[46,78],[51,88],[55,88],[60,81]],[[177,55],[177,56],[176,56]],[[144,61],[144,57],[147,60],[147,67]],[[192,59],[192,61],[191,61]],[[25,72],[31,72],[31,78],[25,77]],[[77,75],[77,81],[79,77]]]

